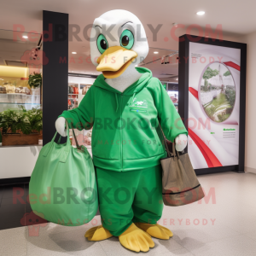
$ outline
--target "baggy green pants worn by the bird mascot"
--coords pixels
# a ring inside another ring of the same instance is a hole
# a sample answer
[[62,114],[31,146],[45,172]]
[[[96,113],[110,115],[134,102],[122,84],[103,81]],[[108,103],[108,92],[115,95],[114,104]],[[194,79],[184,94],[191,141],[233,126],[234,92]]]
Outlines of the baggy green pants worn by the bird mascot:
[[96,167],[102,225],[113,236],[131,223],[156,224],[163,211],[162,169],[111,172]]

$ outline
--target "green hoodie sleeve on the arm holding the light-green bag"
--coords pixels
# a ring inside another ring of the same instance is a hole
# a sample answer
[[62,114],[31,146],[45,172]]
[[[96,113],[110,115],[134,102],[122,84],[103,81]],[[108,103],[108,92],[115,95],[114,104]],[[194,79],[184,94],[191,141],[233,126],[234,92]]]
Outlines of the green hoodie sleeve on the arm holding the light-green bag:
[[79,108],[65,110],[59,117],[67,120],[69,128],[76,128],[79,131],[89,130],[94,123],[95,116],[95,100],[93,86],[85,94],[83,100],[79,104]]

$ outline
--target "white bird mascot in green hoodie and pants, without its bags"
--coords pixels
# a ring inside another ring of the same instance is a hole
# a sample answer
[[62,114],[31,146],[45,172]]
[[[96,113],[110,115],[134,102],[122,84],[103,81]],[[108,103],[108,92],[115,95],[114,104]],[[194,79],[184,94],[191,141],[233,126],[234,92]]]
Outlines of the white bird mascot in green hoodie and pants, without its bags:
[[[118,236],[135,252],[154,247],[152,236],[169,239],[172,231],[157,224],[163,211],[163,136],[187,144],[187,131],[170,97],[150,70],[137,67],[148,55],[141,21],[125,10],[96,18],[90,33],[90,58],[102,72],[79,104],[56,120],[67,136],[69,127],[92,131],[102,225],[85,233],[89,241]],[[160,125],[159,125],[160,124]]]

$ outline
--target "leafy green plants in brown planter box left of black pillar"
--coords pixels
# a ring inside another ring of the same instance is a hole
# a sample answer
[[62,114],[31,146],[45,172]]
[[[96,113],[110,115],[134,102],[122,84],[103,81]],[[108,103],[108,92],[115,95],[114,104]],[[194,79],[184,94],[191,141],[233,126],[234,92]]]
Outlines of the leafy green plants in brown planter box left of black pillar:
[[5,110],[0,113],[2,145],[35,145],[43,128],[43,112],[40,108]]

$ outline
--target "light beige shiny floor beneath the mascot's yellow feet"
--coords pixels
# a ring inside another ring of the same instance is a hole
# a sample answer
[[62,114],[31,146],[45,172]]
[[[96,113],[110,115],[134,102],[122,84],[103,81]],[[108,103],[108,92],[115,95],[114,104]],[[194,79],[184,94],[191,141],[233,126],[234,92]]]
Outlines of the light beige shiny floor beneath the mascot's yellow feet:
[[[174,236],[168,241],[154,239],[155,247],[141,254],[255,256],[256,175],[226,172],[200,176],[199,179],[206,195],[212,193],[212,197],[206,196],[201,204],[196,202],[184,207],[165,207],[160,224],[171,229]],[[2,203],[9,202],[9,193],[8,189],[0,191]],[[6,222],[15,214],[11,208],[9,218],[5,217]],[[26,205],[17,207],[17,214],[21,215],[24,211]],[[100,223],[99,216],[94,218],[93,224],[96,223]],[[116,237],[99,242],[87,241],[84,233],[93,224],[63,227],[48,223],[45,227],[23,226],[1,230],[0,255],[137,254],[122,247]],[[1,225],[4,226],[2,220]]]

